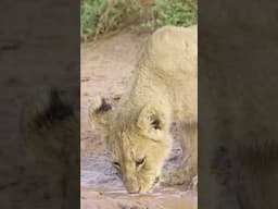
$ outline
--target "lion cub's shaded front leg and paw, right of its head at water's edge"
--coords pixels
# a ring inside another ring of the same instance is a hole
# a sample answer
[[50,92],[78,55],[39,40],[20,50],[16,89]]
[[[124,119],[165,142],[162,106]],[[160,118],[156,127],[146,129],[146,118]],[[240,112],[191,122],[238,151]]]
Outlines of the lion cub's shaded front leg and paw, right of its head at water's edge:
[[186,138],[182,140],[182,161],[180,169],[163,174],[166,185],[186,184],[197,190],[198,184],[198,127],[197,123],[185,124]]

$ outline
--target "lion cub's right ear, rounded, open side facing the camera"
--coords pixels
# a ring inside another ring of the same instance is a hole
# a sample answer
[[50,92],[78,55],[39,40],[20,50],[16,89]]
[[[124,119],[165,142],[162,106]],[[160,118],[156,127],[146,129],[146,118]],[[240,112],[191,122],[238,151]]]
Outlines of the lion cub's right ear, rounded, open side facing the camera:
[[153,139],[160,139],[169,131],[169,111],[167,108],[151,102],[146,104],[138,118],[137,125],[142,134]]

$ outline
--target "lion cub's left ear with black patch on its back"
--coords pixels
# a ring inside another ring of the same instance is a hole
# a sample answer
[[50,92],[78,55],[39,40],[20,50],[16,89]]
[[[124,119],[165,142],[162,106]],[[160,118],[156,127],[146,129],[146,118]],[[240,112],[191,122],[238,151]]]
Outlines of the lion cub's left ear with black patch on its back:
[[112,113],[112,107],[106,103],[104,98],[94,97],[89,107],[89,120],[92,126],[98,130],[105,130],[109,118]]

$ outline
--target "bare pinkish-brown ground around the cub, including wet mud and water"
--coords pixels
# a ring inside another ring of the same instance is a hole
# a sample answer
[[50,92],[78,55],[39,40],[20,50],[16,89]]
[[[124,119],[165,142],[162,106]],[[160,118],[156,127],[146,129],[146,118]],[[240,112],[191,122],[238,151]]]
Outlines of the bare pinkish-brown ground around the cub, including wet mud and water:
[[[88,107],[96,95],[116,104],[125,91],[142,46],[149,34],[121,32],[96,42],[83,44],[81,64],[81,208],[83,209],[191,209],[197,207],[197,194],[180,187],[160,187],[148,195],[129,195],[117,179],[106,157],[101,134],[89,124]],[[175,145],[164,169],[177,168],[182,137],[178,122],[172,128]]]

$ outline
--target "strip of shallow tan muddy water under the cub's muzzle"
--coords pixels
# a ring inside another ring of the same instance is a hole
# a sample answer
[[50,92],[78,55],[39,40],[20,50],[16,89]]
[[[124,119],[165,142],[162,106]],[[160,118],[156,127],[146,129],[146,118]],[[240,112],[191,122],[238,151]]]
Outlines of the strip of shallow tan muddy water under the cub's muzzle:
[[150,195],[127,195],[123,190],[105,193],[83,189],[81,208],[119,208],[119,209],[193,209],[195,196],[186,192],[163,190]]

